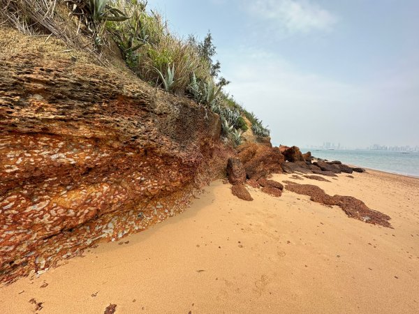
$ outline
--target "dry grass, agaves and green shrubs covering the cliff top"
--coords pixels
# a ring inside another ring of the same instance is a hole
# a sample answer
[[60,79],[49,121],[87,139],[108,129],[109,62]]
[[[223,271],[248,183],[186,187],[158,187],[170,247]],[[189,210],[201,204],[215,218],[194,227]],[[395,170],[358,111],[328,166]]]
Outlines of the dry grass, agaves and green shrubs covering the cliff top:
[[128,68],[140,79],[193,98],[219,114],[226,142],[241,143],[248,129],[244,117],[254,135],[269,136],[253,112],[222,90],[229,82],[219,76],[221,64],[214,61],[211,33],[203,41],[196,36],[179,38],[159,13],[147,10],[147,1],[0,0],[0,4],[0,20],[28,35],[53,34],[101,60],[116,44]]

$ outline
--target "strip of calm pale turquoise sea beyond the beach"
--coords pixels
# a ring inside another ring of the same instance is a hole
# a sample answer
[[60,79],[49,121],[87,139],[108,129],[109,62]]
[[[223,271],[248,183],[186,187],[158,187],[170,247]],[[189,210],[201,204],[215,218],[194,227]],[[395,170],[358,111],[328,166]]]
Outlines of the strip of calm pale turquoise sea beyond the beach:
[[311,151],[311,155],[318,158],[340,160],[342,163],[360,167],[419,177],[419,153],[404,154],[400,151],[328,151],[315,149],[301,149],[301,151],[302,153]]

